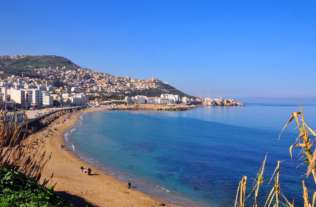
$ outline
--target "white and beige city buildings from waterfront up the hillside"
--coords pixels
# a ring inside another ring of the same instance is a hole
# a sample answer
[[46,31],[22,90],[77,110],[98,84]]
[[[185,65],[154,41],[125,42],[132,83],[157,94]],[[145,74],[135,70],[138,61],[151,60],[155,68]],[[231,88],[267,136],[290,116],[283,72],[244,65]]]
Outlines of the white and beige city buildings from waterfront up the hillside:
[[[8,56],[2,58],[17,58]],[[154,76],[149,80],[131,79],[130,77],[119,77],[104,73],[98,73],[87,68],[68,69],[64,67],[35,68],[39,75],[48,78],[31,78],[21,76],[9,76],[0,78],[0,101],[1,106],[7,108],[40,108],[44,106],[60,105],[85,105],[89,102],[113,105],[128,104],[180,104],[180,103],[203,103],[205,105],[238,105],[234,99],[224,100],[212,98],[189,99],[179,95],[168,94],[161,87],[162,82]],[[0,71],[3,74],[3,71]],[[158,88],[165,91],[160,97],[147,97],[137,95],[129,97],[134,91]],[[26,99],[27,94],[27,99]],[[91,96],[102,97],[103,95],[121,95],[125,100],[89,100]],[[115,101],[115,102],[114,102]]]

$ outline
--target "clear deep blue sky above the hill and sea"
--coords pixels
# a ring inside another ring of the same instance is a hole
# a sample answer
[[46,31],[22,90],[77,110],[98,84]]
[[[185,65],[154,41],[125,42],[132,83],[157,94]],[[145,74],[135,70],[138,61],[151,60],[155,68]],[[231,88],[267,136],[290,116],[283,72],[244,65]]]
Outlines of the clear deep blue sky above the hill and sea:
[[315,1],[1,1],[0,55],[155,75],[196,96],[316,103],[315,9]]

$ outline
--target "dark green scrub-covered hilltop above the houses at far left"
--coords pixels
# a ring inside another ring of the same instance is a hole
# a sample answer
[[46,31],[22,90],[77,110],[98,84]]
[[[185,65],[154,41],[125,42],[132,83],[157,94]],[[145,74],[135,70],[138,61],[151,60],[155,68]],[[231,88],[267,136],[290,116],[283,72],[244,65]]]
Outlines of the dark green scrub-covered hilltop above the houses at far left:
[[62,68],[64,66],[68,69],[80,68],[80,66],[71,62],[67,58],[55,55],[22,55],[18,59],[0,59],[0,70],[3,70],[5,73],[2,74],[2,76],[21,75],[23,72],[25,76],[42,79],[44,76],[37,74],[36,71],[34,71],[34,68]]

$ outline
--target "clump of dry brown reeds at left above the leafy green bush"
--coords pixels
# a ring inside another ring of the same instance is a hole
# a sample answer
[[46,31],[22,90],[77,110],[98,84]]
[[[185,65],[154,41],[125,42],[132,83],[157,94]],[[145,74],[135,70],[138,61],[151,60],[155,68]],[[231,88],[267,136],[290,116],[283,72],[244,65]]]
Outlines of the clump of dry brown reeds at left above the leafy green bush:
[[[45,143],[42,140],[35,142],[32,132],[27,130],[27,122],[22,121],[18,125],[16,112],[12,117],[14,116],[14,122],[13,118],[11,122],[6,121],[6,113],[0,116],[0,167],[21,171],[40,183],[42,170],[50,155],[46,156],[46,152],[43,151]],[[27,120],[26,113],[24,120]],[[42,184],[46,185],[47,182],[45,179]]]

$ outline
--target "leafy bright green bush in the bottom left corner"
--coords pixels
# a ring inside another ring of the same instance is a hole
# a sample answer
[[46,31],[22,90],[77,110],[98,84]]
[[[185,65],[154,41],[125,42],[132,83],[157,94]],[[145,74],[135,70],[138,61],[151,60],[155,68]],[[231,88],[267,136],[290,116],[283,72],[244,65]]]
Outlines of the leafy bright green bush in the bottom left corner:
[[0,206],[74,206],[53,191],[53,186],[40,186],[21,172],[0,168]]

